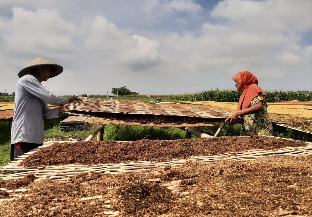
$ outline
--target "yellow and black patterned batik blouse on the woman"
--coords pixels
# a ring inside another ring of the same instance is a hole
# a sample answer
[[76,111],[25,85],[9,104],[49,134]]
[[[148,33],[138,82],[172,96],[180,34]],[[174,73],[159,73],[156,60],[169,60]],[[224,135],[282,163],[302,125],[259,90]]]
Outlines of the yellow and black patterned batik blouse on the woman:
[[272,123],[266,109],[266,99],[262,96],[256,96],[249,107],[263,101],[263,109],[255,114],[244,115],[241,124],[241,136],[273,136]]

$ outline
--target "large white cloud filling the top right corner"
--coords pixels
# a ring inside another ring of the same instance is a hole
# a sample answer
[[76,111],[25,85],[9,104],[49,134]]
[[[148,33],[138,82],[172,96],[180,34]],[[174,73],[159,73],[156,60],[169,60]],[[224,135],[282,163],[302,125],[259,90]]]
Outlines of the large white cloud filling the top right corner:
[[224,17],[249,30],[308,32],[312,30],[310,0],[225,0],[212,10],[212,17]]

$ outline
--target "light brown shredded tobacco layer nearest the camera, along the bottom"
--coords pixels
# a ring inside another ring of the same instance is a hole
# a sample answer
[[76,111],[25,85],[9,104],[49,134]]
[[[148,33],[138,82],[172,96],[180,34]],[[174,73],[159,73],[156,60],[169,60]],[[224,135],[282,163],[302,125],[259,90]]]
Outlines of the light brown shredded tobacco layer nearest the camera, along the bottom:
[[[156,171],[87,173],[41,180],[28,195],[1,204],[8,216],[277,216],[312,215],[312,157],[188,162]],[[178,191],[172,180],[182,180]],[[10,182],[10,181],[5,181]],[[169,186],[169,187],[166,187]],[[102,198],[85,200],[86,197]]]

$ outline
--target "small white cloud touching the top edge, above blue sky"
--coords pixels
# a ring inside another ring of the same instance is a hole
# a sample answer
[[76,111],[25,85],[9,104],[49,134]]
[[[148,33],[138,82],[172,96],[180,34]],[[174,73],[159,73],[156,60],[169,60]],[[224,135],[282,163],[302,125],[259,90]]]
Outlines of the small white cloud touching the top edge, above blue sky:
[[183,11],[190,13],[197,13],[202,11],[199,4],[194,3],[192,0],[173,0],[164,4],[164,9],[167,11]]

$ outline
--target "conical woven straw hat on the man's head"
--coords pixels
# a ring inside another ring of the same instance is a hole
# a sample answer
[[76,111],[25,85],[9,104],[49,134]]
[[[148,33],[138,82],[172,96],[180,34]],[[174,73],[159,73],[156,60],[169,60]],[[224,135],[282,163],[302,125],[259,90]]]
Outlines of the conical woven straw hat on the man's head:
[[21,78],[24,75],[30,75],[31,70],[37,66],[51,66],[50,78],[55,77],[63,72],[63,67],[56,64],[55,62],[47,60],[43,57],[36,57],[32,59],[20,72],[18,72],[18,77]]

